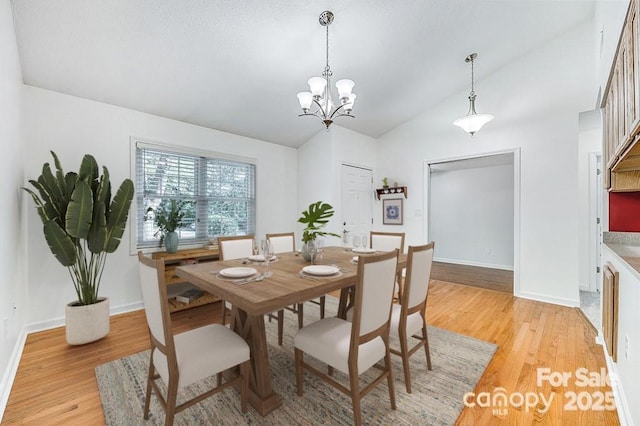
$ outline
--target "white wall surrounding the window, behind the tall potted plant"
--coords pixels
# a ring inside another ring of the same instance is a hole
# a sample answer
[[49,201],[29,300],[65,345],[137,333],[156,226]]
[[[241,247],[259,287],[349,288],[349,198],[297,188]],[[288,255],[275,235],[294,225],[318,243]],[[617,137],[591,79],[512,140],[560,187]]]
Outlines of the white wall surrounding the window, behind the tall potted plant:
[[[25,173],[29,178],[40,174],[53,150],[65,171],[77,170],[82,156],[91,153],[109,168],[113,185],[127,177],[135,181],[130,176],[129,138],[136,136],[257,159],[257,235],[295,226],[295,149],[29,86],[24,96],[24,144],[30,154]],[[29,322],[49,326],[60,322],[65,304],[75,299],[73,285],[66,268],[46,246],[33,202],[29,202],[27,218]],[[129,227],[120,248],[108,257],[102,277],[100,293],[111,299],[112,311],[137,306],[141,300],[137,260],[128,250],[131,230]]]

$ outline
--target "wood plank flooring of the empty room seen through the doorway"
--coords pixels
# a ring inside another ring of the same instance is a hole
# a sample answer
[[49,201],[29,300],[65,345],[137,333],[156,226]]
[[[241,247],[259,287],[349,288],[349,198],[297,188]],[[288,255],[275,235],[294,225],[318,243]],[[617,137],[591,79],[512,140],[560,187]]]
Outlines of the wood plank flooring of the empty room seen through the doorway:
[[431,279],[513,294],[513,271],[433,262]]

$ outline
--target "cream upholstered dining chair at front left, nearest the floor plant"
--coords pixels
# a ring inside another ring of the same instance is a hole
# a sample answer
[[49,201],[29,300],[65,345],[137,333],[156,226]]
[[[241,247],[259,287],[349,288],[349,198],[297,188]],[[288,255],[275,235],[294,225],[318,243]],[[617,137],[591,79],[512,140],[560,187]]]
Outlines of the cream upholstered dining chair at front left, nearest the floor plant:
[[[151,340],[151,356],[144,402],[145,420],[149,419],[151,392],[165,411],[165,425],[172,425],[176,413],[216,394],[229,386],[241,385],[241,408],[247,411],[249,395],[249,345],[236,333],[220,324],[205,325],[173,334],[164,277],[164,260],[151,259],[138,252],[140,285]],[[240,367],[235,377],[222,381],[222,372]],[[176,405],[179,389],[217,375],[217,385]],[[166,385],[163,396],[156,380]]]

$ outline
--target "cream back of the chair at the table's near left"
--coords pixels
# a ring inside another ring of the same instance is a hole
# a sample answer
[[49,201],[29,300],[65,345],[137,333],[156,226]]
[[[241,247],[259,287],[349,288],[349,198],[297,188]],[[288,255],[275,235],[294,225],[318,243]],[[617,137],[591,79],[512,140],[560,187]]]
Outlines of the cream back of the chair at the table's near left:
[[138,252],[138,260],[142,301],[149,332],[160,344],[166,346],[163,318],[168,317],[168,321],[171,321],[171,318],[168,312],[165,312],[167,286],[164,284],[164,260],[150,259],[142,252]]

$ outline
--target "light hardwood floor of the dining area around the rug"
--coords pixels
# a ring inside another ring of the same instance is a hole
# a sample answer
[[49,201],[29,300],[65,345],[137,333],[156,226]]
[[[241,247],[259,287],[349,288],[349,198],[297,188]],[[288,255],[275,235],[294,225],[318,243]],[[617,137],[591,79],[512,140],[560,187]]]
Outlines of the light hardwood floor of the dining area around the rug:
[[[176,331],[219,321],[218,304],[174,314]],[[516,392],[553,394],[545,414],[535,408],[509,407],[506,414],[491,408],[465,408],[461,425],[553,424],[616,425],[613,411],[564,410],[565,392],[610,391],[607,388],[536,385],[536,369],[575,373],[584,367],[598,372],[605,366],[594,332],[576,309],[518,299],[510,294],[432,281],[427,322],[456,333],[493,342],[498,350],[482,376],[476,393],[498,387]],[[100,425],[103,413],[94,368],[149,347],[144,313],[114,316],[109,335],[93,344],[71,347],[62,328],[30,335],[20,361],[2,424]],[[416,355],[418,356],[418,355]],[[293,372],[292,372],[293,374]],[[400,378],[395,378],[401,380]],[[402,407],[398,407],[399,410]]]

